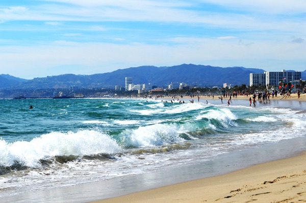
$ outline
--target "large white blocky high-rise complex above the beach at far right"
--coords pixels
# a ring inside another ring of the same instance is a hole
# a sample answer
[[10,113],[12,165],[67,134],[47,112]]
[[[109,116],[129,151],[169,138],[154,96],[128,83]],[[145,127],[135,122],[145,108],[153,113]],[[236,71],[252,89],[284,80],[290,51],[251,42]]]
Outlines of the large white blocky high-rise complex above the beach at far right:
[[281,72],[264,72],[264,73],[251,73],[250,86],[252,85],[265,85],[279,87],[283,85],[294,85],[301,80],[301,72],[299,71],[286,71]]

